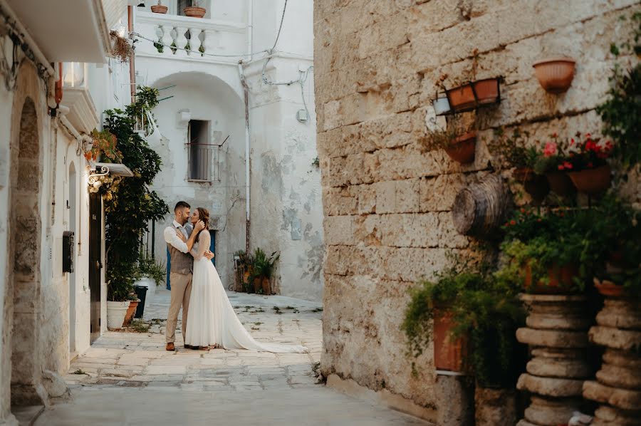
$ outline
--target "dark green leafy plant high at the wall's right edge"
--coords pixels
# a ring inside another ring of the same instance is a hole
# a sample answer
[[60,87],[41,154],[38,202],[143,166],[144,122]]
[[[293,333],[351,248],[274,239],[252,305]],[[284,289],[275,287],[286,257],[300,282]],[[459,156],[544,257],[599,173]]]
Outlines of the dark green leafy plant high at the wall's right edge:
[[630,60],[627,66],[622,59],[615,63],[608,99],[597,108],[603,134],[615,141],[613,155],[624,170],[641,162],[641,12],[632,14],[631,21],[635,26],[632,41],[613,44],[610,51],[617,58],[633,55],[637,59]]

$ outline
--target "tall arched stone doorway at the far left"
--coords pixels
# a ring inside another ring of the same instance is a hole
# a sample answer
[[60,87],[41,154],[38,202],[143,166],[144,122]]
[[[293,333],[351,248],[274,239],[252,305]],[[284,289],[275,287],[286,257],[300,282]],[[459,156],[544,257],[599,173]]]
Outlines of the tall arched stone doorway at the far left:
[[[17,129],[16,129],[17,130]],[[14,133],[15,134],[15,133]],[[21,109],[18,152],[11,159],[11,218],[9,227],[9,286],[13,303],[11,333],[11,405],[42,404],[41,350],[41,149],[38,114],[27,97]],[[14,145],[14,147],[16,146]]]

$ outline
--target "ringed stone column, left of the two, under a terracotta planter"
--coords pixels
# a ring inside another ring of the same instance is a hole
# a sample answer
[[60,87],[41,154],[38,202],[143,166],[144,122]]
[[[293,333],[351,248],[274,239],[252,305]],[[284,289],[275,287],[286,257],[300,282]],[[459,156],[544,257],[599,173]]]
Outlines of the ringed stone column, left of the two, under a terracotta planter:
[[527,327],[519,328],[516,338],[530,346],[531,360],[516,388],[532,397],[517,426],[566,425],[580,411],[583,381],[590,376],[587,298],[523,294],[521,300],[529,314]]

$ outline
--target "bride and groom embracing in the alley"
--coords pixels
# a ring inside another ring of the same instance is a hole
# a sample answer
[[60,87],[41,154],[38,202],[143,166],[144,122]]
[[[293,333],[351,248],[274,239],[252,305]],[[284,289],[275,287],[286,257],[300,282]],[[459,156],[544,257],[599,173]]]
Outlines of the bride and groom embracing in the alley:
[[182,306],[184,347],[207,349],[248,349],[273,353],[303,353],[304,346],[260,343],[251,337],[239,321],[211,259],[209,251],[209,212],[180,201],[174,207],[174,222],[165,228],[170,251],[172,283],[170,310],[167,316],[167,350],[174,350],[178,312]]

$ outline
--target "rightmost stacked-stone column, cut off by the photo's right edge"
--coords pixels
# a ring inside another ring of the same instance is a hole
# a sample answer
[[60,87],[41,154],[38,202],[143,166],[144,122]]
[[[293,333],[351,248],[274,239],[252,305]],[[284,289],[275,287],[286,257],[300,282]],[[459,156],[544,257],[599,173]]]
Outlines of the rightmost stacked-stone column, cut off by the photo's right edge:
[[583,384],[583,396],[602,405],[593,426],[641,425],[641,301],[605,298],[590,341],[605,346],[596,380]]

